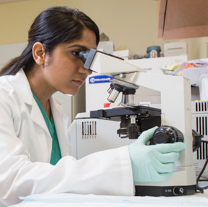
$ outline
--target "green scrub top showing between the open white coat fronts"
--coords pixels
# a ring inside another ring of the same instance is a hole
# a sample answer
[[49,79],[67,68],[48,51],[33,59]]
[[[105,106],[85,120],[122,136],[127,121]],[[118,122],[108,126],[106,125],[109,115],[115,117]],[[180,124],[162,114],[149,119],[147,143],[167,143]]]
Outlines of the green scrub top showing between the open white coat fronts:
[[51,151],[51,160],[50,163],[52,165],[55,165],[60,159],[61,159],[61,151],[60,151],[60,147],[59,147],[59,142],[58,142],[58,137],[57,137],[57,133],[56,133],[56,127],[55,127],[55,123],[53,120],[53,115],[51,112],[51,120],[49,119],[46,111],[44,110],[43,106],[41,105],[40,101],[37,99],[37,97],[35,96],[35,94],[33,93],[33,97],[35,99],[35,101],[37,102],[40,111],[45,119],[46,125],[48,127],[48,130],[50,132],[50,135],[52,137],[52,151]]

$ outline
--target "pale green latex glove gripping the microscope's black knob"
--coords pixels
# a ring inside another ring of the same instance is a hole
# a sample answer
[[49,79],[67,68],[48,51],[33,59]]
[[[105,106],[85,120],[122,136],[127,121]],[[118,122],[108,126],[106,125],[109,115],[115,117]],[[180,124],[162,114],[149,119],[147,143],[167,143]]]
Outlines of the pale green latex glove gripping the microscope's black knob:
[[134,182],[167,180],[174,171],[179,151],[186,147],[182,142],[146,145],[157,128],[144,131],[135,142],[129,145]]

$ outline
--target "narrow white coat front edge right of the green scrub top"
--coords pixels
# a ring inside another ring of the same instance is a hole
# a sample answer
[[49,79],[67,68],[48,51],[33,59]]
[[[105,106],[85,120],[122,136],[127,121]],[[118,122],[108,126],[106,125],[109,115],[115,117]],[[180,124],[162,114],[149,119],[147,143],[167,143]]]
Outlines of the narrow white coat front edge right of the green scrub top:
[[56,127],[56,133],[59,140],[59,146],[62,157],[68,155],[67,143],[67,117],[61,110],[61,102],[54,96],[50,98],[51,110]]

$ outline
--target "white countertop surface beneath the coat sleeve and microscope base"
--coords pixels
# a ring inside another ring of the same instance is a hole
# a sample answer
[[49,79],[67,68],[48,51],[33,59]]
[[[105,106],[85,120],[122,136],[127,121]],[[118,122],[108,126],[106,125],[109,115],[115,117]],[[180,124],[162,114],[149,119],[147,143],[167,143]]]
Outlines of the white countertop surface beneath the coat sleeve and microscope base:
[[208,206],[208,190],[195,195],[173,197],[98,196],[80,194],[40,194],[22,198],[12,207],[200,207]]

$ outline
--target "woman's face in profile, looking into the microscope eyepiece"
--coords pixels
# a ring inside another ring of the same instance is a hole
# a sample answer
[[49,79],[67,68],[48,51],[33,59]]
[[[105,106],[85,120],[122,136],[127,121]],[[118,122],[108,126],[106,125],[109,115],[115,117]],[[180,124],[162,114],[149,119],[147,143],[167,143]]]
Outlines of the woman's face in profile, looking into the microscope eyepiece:
[[80,40],[57,45],[45,59],[43,74],[48,86],[54,92],[76,95],[87,76],[91,74],[90,70],[83,68],[79,52],[96,47],[96,36],[89,29],[83,30]]

